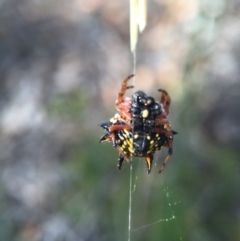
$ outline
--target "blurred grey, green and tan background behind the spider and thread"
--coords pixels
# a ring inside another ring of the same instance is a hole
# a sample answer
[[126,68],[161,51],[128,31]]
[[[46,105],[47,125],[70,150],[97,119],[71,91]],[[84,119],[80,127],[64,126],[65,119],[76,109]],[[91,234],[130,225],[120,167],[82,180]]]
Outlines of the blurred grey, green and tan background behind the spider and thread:
[[[98,124],[132,73],[129,1],[0,11],[0,240],[127,240],[129,165]],[[179,134],[162,174],[167,149],[133,160],[131,240],[240,240],[240,2],[148,0],[136,73]]]

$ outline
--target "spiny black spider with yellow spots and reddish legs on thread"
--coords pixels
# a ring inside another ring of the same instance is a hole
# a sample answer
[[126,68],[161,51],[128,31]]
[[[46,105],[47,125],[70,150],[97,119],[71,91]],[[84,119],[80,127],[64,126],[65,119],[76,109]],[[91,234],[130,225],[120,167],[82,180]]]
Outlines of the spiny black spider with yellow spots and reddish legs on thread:
[[130,75],[123,80],[116,101],[118,113],[110,122],[100,124],[106,134],[99,142],[112,142],[118,150],[119,170],[125,161],[129,161],[130,156],[136,156],[145,157],[148,173],[152,168],[154,153],[162,146],[167,147],[168,155],[159,169],[160,173],[172,155],[173,135],[177,134],[167,120],[171,99],[162,89],[159,89],[162,93],[160,102],[142,91],[135,92],[132,98],[126,97],[126,90],[133,88],[127,85],[132,77]]

